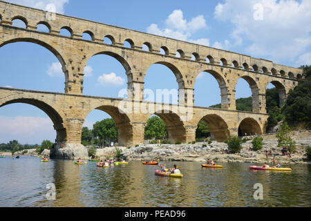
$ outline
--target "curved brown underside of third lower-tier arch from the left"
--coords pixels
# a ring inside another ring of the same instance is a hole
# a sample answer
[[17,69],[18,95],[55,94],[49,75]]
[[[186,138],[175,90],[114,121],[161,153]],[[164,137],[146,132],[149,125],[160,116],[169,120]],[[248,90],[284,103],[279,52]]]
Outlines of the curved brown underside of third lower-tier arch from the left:
[[[173,143],[186,142],[187,140],[186,127],[184,122],[182,122],[182,119],[177,113],[174,113],[173,111],[167,109],[158,109],[158,111],[156,111],[153,114],[157,115],[164,121],[167,127],[169,140],[171,140]],[[151,115],[146,115],[144,122],[147,123],[147,120],[149,119],[149,117],[151,117]]]

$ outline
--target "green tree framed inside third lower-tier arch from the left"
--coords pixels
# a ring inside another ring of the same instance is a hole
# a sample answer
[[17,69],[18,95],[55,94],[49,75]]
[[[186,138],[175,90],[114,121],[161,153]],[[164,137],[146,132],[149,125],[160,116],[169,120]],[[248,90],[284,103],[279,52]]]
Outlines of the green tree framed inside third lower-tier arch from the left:
[[158,116],[150,117],[147,121],[147,125],[144,128],[145,139],[162,139],[167,137],[167,129],[165,123]]

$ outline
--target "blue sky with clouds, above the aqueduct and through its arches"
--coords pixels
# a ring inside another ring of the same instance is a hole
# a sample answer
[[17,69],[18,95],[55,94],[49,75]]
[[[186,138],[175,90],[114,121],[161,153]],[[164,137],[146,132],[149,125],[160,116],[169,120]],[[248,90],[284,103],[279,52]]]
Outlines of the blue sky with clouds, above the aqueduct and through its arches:
[[[65,15],[205,44],[288,66],[298,67],[311,61],[311,2],[308,0],[10,2],[41,9],[54,3],[57,12]],[[262,10],[259,15],[258,6]],[[15,25],[21,23],[17,21]],[[0,67],[0,86],[64,92],[59,61],[49,50],[36,44],[3,46]],[[117,97],[127,87],[124,68],[108,55],[92,57],[85,74],[84,95]],[[147,70],[144,87],[172,89],[178,88],[178,84],[171,70],[154,64]],[[194,94],[196,106],[220,103],[217,81],[207,73],[200,75]],[[236,98],[251,94],[246,81],[239,79]],[[109,115],[102,111],[92,111],[84,126],[91,127],[106,117]],[[22,144],[35,144],[55,139],[48,116],[27,104],[0,108],[0,124],[0,143],[16,139]]]

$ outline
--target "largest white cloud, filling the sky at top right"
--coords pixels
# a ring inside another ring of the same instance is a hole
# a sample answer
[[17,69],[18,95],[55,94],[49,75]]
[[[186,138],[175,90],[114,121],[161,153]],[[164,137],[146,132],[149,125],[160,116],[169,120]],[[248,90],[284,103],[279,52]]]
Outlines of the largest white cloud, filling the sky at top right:
[[310,0],[225,0],[214,17],[233,23],[234,46],[245,44],[252,56],[294,64],[311,46],[310,11]]

